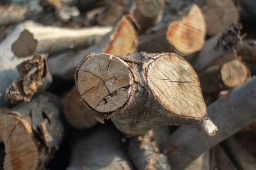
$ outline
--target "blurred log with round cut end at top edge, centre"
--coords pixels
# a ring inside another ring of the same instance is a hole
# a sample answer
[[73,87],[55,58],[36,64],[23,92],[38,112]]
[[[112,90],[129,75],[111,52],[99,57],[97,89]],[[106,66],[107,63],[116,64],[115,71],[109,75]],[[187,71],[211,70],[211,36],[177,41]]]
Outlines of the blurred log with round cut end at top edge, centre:
[[161,20],[163,16],[164,0],[137,0],[135,1],[136,9],[133,15],[138,24],[140,24],[140,32],[147,31],[153,25]]

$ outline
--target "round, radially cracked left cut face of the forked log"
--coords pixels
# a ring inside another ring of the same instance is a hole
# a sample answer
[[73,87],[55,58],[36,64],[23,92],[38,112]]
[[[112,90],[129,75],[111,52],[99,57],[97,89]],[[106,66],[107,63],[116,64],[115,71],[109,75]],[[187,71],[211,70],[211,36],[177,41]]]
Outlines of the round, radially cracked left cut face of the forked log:
[[90,55],[79,66],[77,89],[84,102],[101,113],[122,108],[129,99],[132,74],[127,64],[113,55]]

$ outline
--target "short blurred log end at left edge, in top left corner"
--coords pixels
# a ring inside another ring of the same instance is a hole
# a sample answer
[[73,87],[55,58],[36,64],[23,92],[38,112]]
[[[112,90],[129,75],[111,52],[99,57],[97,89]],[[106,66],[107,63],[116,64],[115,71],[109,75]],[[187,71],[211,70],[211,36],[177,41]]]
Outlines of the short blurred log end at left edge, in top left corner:
[[21,22],[26,18],[26,11],[20,6],[0,6],[0,26]]

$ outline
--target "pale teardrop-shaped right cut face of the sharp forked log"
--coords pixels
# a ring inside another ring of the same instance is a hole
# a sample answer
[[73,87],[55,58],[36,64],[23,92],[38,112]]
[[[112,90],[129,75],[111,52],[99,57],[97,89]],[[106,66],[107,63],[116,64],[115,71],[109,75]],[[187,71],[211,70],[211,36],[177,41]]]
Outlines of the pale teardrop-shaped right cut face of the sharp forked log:
[[164,108],[183,117],[204,117],[198,77],[186,60],[171,53],[152,62],[147,74],[148,85]]

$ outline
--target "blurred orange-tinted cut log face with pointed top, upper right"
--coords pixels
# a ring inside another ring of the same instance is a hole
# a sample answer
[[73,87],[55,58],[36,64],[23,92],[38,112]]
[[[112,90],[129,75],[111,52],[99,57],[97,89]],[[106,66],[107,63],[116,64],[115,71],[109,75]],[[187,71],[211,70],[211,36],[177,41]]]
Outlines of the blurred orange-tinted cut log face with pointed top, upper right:
[[186,17],[169,25],[166,38],[178,52],[186,55],[201,50],[205,34],[204,15],[198,6],[193,5]]

